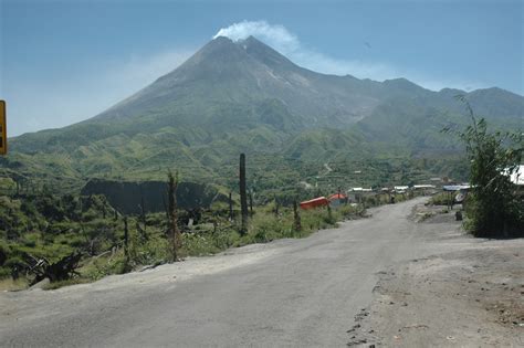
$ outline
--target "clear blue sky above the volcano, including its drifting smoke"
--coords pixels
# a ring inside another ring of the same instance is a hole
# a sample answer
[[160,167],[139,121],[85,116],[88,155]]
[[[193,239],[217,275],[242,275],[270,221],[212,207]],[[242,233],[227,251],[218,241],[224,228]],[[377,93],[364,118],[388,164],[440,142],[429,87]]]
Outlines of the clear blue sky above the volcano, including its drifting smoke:
[[311,70],[524,94],[524,1],[0,0],[10,135],[90,118],[217,33]]

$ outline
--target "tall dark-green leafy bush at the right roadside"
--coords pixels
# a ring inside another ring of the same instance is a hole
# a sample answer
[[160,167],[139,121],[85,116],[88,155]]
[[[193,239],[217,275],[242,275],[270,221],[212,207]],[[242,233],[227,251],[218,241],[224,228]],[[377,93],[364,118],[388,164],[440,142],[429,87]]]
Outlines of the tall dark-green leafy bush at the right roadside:
[[510,180],[522,160],[523,133],[488,131],[485,119],[475,117],[463,96],[458,98],[464,103],[470,118],[470,125],[457,131],[470,161],[472,191],[467,204],[468,228],[476,236],[523,235],[523,201]]

